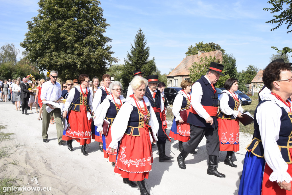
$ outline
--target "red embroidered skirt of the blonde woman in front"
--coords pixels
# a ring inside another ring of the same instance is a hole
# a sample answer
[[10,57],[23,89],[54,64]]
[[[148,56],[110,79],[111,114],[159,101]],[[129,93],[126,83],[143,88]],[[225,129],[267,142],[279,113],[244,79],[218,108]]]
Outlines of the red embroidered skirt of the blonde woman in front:
[[140,136],[124,134],[119,145],[117,162],[114,168],[123,178],[130,181],[148,179],[153,163],[150,134],[145,128],[139,129]]

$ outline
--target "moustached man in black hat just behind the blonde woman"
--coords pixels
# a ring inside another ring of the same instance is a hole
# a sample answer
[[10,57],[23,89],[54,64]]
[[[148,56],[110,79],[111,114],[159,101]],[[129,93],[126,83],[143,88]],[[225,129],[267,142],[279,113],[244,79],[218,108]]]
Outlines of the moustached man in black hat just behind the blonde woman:
[[169,157],[165,155],[165,143],[166,137],[170,141],[169,137],[166,135],[164,128],[162,126],[162,112],[164,111],[164,103],[163,99],[160,95],[160,91],[157,89],[158,75],[150,75],[147,77],[148,79],[148,87],[146,87],[145,96],[150,101],[150,104],[156,114],[156,118],[159,123],[159,130],[157,133],[157,148],[159,152],[159,162],[164,162],[167,160],[173,159],[173,157]]

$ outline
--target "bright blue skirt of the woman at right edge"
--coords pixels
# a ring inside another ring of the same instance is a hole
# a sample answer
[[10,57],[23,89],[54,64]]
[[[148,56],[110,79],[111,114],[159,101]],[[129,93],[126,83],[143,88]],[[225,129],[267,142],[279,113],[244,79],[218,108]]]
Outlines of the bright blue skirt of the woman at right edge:
[[265,159],[246,152],[238,195],[261,194]]

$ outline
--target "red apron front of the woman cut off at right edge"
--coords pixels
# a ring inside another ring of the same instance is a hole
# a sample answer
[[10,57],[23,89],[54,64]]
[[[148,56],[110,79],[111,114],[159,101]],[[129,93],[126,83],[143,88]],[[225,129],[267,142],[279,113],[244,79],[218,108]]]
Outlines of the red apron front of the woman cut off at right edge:
[[[289,149],[289,150],[290,150],[290,154],[291,154],[292,149]],[[272,172],[273,172],[273,170],[266,163],[265,169],[264,169],[264,175],[263,175],[262,194],[269,194],[269,195],[279,195],[279,194],[287,195],[287,194],[289,194],[289,195],[292,195],[292,191],[281,189],[276,181],[275,182],[270,181],[269,178],[270,178],[270,175],[272,174]],[[292,175],[292,164],[288,164],[287,172],[289,173],[289,175]]]

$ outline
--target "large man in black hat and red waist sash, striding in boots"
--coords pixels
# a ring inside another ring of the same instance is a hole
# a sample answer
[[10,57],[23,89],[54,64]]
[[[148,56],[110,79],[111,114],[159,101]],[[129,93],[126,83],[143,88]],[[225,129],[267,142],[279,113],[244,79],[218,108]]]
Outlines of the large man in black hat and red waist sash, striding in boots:
[[[203,137],[205,136],[208,160],[208,175],[225,177],[217,171],[217,157],[219,156],[219,136],[218,136],[218,93],[214,84],[218,81],[224,65],[211,62],[206,75],[202,75],[199,80],[192,84],[192,108],[187,118],[190,124],[190,140],[183,146],[183,150],[177,158],[178,166],[186,169],[185,158],[189,153],[193,153]],[[204,98],[202,98],[204,97]]]

